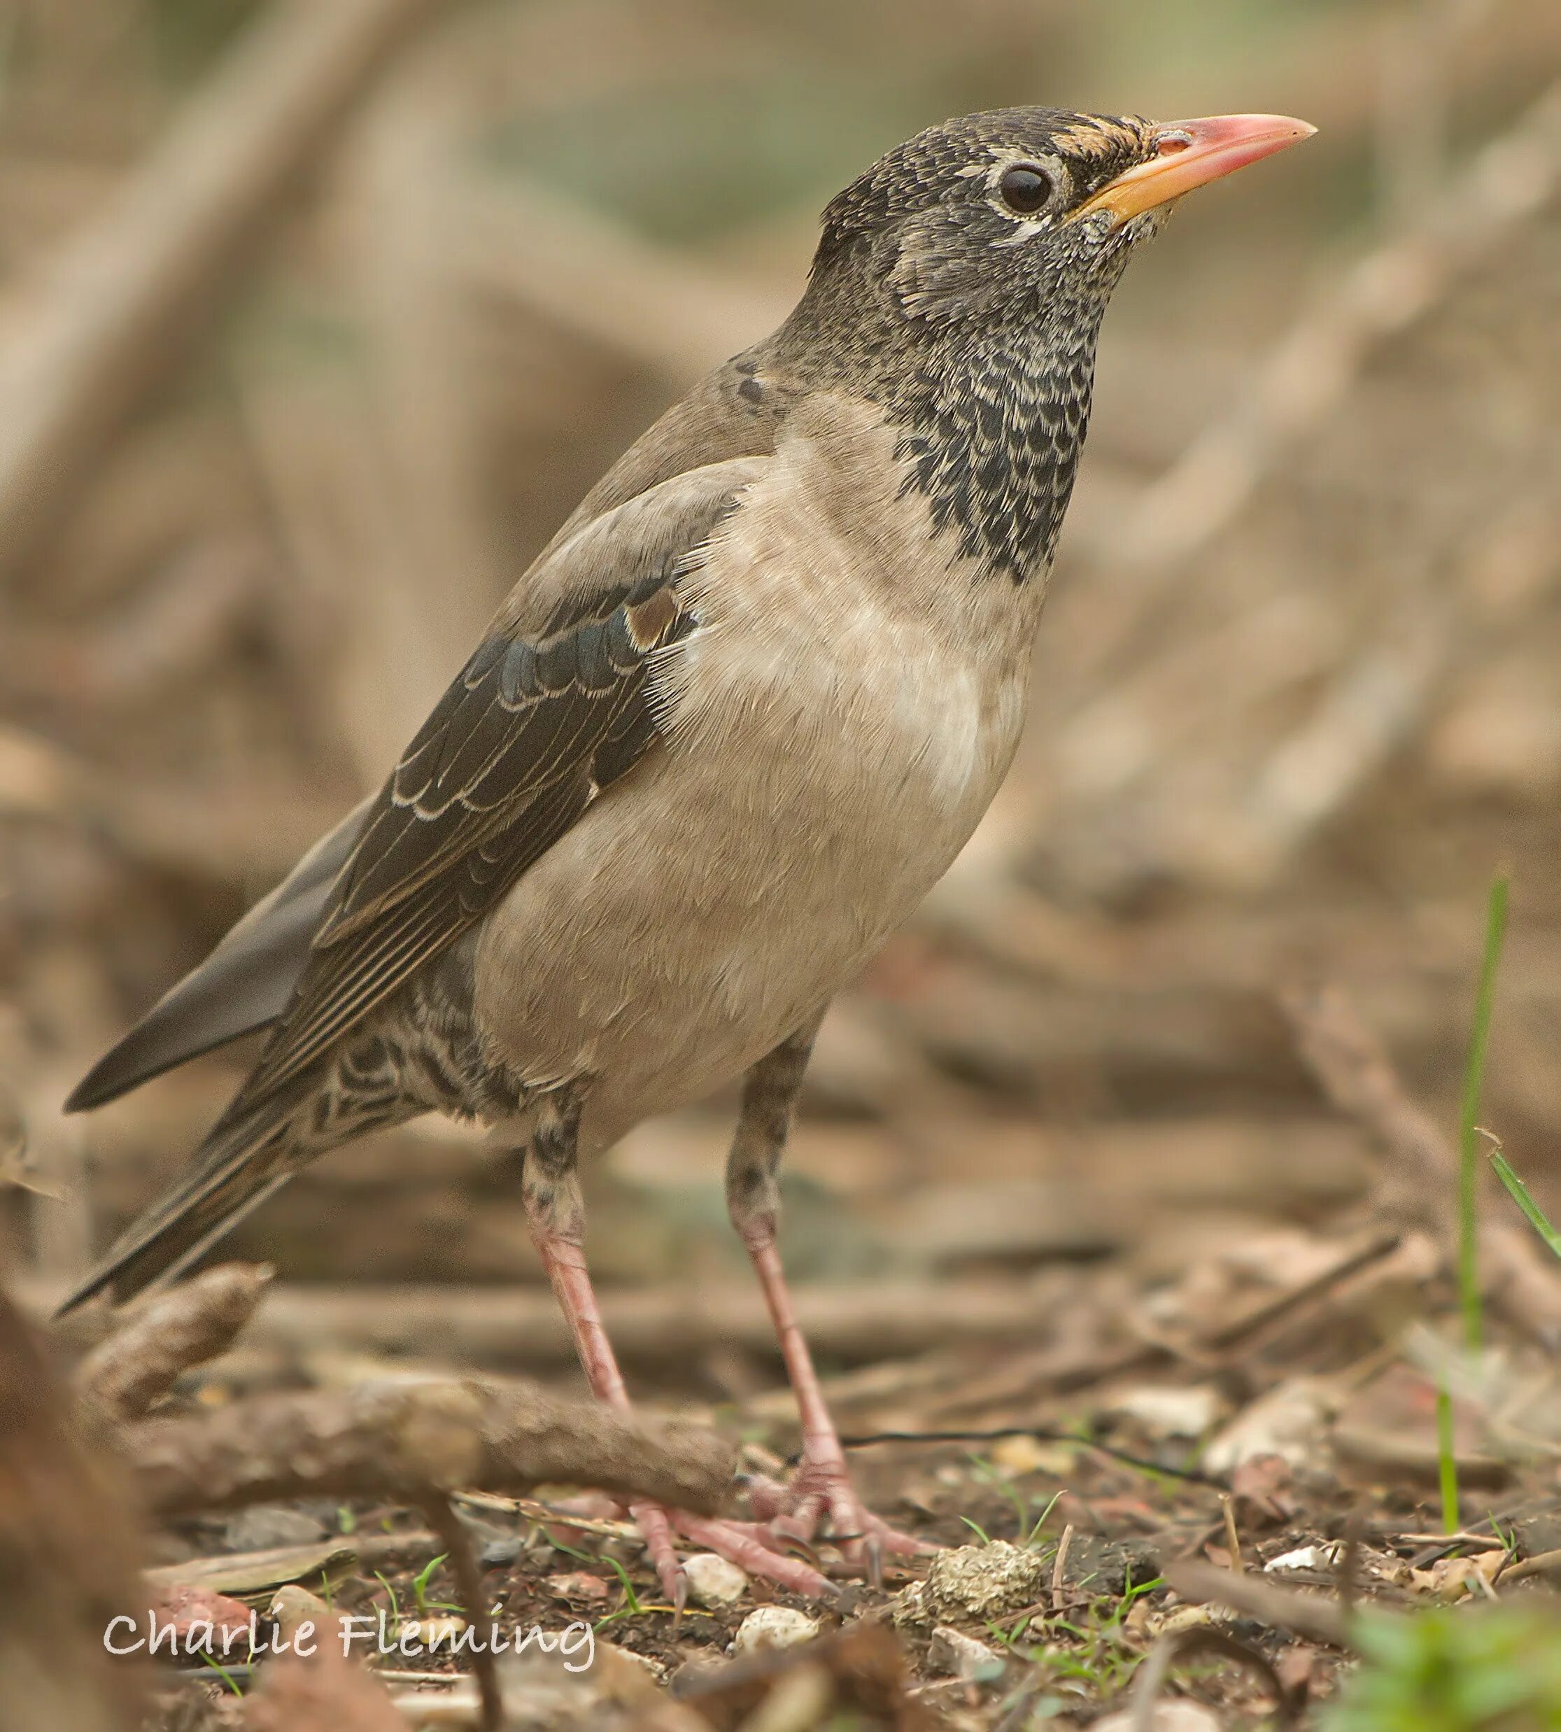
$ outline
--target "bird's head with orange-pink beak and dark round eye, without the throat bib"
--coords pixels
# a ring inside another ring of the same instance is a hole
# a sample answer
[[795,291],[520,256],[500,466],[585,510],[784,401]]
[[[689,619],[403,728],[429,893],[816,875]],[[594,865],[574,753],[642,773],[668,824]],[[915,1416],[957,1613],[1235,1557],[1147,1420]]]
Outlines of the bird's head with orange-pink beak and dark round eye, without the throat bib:
[[1313,130],[1279,114],[1156,125],[1046,107],[944,121],[830,203],[814,286],[868,275],[929,326],[1104,303],[1176,199]]

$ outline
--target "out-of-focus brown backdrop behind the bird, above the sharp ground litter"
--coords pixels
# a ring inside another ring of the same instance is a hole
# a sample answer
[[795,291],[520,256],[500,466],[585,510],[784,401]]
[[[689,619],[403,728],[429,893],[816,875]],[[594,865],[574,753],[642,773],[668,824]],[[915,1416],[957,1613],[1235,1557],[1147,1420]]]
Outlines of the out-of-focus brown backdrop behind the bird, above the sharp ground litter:
[[[823,201],[1029,100],[1320,133],[1128,274],[1027,741],[826,1025],[790,1259],[974,1290],[1315,1223],[1363,1141],[1277,992],[1348,989],[1450,1124],[1499,866],[1485,1117],[1561,1202],[1558,80],[1554,0],[9,0],[10,1268],[80,1270],[184,1160],[243,1053],[59,1100],[381,779],[613,456],[785,313]],[[729,1105],[593,1174],[606,1283],[738,1271]],[[537,1278],[513,1173],[433,1121],[234,1249],[338,1290]]]

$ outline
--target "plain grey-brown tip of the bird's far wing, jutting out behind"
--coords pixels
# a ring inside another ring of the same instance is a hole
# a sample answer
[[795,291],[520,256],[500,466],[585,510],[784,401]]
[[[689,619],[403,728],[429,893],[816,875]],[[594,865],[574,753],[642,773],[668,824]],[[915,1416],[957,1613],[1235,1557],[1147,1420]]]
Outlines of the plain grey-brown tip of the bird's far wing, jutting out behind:
[[374,797],[303,856],[215,951],[137,1022],[71,1091],[66,1112],[102,1107],[173,1065],[270,1027],[288,1008],[308,947]]

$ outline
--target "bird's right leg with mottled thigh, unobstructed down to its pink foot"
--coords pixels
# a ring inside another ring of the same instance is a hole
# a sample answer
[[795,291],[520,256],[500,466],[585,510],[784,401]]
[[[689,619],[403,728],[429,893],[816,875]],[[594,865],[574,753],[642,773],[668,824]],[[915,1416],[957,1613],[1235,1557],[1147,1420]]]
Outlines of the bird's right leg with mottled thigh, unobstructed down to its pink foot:
[[778,1540],[806,1543],[813,1540],[819,1521],[828,1517],[830,1531],[844,1541],[847,1559],[863,1564],[877,1580],[884,1552],[913,1554],[927,1547],[910,1535],[896,1533],[858,1498],[845,1467],[840,1434],[830,1419],[813,1367],[813,1354],[792,1309],[792,1294],[776,1247],[780,1223],[776,1174],[821,1020],[823,1013],[781,1041],[748,1072],[736,1136],[726,1162],[726,1205],[754,1259],[802,1420],[802,1458],[792,1484],[780,1486],[774,1481],[755,1479],[750,1496],[755,1512],[769,1517],[769,1531]]

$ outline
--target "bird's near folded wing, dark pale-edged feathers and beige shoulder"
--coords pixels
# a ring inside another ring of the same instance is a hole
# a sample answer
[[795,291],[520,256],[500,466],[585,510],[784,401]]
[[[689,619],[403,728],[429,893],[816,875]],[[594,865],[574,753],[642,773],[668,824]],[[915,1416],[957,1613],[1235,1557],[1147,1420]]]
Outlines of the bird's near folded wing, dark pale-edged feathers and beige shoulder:
[[690,471],[556,547],[501,613],[374,798],[329,887],[307,966],[234,1102],[312,1065],[478,921],[658,740],[657,656],[695,618],[684,577],[768,459]]

